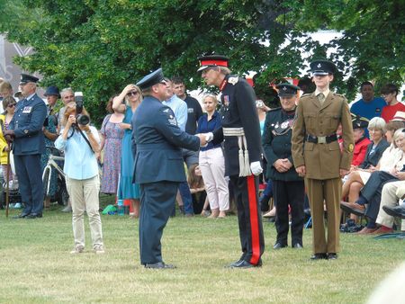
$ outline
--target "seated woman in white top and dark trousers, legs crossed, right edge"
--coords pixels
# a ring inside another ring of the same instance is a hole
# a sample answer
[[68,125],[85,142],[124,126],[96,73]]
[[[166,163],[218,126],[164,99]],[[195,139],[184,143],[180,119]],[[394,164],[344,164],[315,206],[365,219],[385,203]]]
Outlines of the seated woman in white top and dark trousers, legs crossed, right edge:
[[358,232],[359,234],[381,234],[392,232],[392,228],[381,226],[377,228],[375,220],[380,210],[380,202],[382,197],[383,185],[392,181],[405,180],[405,129],[396,130],[393,136],[395,145],[400,149],[395,158],[392,159],[393,167],[390,171],[375,171],[371,174],[367,183],[360,192],[359,198],[356,201],[357,205],[367,205],[367,209],[353,209],[348,206],[343,206],[342,209],[355,213],[356,215],[365,215],[367,218],[367,226]]

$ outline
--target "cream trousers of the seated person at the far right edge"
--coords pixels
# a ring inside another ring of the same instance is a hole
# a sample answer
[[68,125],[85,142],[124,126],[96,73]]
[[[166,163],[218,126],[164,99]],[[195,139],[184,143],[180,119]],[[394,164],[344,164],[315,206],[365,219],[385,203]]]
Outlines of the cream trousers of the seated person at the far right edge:
[[[405,181],[385,183],[383,186],[383,192],[381,195],[380,211],[378,211],[378,217],[375,220],[377,224],[392,228],[394,218],[388,215],[383,210],[383,206],[395,207],[398,205],[397,196],[398,188],[403,187]],[[405,230],[405,220],[402,219],[401,230]]]

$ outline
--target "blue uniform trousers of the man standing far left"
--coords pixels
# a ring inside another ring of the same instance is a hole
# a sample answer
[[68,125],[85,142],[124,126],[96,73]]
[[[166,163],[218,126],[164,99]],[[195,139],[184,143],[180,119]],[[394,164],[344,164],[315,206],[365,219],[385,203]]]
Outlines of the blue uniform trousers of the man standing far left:
[[42,213],[43,186],[40,154],[14,155],[14,165],[15,173],[18,176],[21,199],[25,204],[23,213]]

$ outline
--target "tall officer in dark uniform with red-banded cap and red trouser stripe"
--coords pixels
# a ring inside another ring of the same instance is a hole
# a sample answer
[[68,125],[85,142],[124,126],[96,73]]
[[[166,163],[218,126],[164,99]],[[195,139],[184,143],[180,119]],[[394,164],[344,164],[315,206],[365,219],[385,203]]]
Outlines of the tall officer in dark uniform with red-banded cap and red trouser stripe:
[[238,207],[242,255],[232,268],[261,266],[265,250],[258,207],[258,177],[262,173],[260,127],[256,95],[244,78],[230,76],[228,58],[219,55],[200,59],[202,78],[220,88],[222,128],[207,134],[214,145],[224,141],[225,175],[229,176]]

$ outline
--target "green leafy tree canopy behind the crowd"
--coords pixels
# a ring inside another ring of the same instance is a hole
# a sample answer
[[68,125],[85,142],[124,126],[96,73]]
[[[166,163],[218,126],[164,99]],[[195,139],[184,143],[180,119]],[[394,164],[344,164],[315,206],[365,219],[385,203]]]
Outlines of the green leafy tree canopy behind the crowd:
[[[42,85],[83,91],[87,108],[102,118],[112,94],[160,66],[166,76],[184,76],[189,89],[201,86],[197,58],[211,53],[229,56],[236,74],[256,71],[261,94],[275,78],[302,76],[312,58],[338,64],[335,85],[349,100],[362,81],[400,83],[404,6],[394,0],[3,0],[0,31],[35,49],[16,62],[40,72]],[[320,29],[343,35],[320,45],[308,34]],[[330,47],[335,51],[328,54]]]

